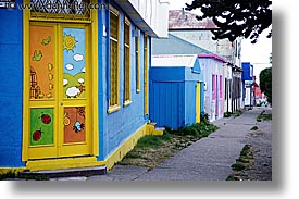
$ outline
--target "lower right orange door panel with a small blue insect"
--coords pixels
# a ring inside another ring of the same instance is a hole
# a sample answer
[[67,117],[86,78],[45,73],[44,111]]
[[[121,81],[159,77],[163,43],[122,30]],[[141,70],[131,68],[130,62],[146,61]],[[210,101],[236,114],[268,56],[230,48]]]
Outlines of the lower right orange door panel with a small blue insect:
[[64,144],[85,141],[85,107],[64,108],[63,125]]

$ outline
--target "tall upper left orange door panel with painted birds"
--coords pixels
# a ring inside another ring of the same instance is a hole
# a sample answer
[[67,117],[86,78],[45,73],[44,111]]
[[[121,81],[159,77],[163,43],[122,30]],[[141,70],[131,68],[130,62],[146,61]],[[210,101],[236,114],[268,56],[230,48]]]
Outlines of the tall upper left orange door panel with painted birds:
[[54,29],[30,26],[30,99],[54,98]]

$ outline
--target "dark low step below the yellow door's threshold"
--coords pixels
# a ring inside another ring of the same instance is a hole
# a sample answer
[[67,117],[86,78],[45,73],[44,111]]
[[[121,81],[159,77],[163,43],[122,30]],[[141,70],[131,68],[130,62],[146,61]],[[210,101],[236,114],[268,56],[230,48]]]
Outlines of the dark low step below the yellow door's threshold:
[[21,172],[22,177],[78,177],[78,176],[91,176],[91,175],[104,175],[107,174],[105,166],[91,166],[91,167],[76,167],[65,170],[45,170],[35,172]]

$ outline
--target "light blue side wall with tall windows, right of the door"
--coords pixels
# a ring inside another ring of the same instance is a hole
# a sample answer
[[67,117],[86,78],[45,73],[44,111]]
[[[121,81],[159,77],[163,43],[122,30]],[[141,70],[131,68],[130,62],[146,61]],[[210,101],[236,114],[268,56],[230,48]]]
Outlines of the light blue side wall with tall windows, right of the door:
[[[113,4],[113,3],[112,3]],[[139,77],[140,77],[140,88],[141,91],[136,91],[136,58],[135,58],[135,37],[130,37],[130,95],[132,103],[124,107],[124,18],[125,14],[121,8],[113,4],[120,11],[121,18],[121,49],[120,49],[120,101],[121,109],[113,113],[108,113],[109,108],[109,11],[102,10],[101,12],[101,23],[99,26],[103,25],[107,29],[107,36],[102,35],[99,30],[99,37],[101,37],[101,48],[102,55],[99,54],[99,129],[100,129],[100,156],[99,160],[104,160],[108,158],[115,149],[117,149],[123,141],[133,135],[138,128],[145,125],[149,117],[145,115],[144,104],[145,104],[145,89],[144,89],[144,33],[139,37]],[[99,21],[100,23],[100,21]],[[130,24],[132,29],[135,25]],[[149,37],[150,40],[150,37]],[[150,49],[150,42],[149,49]],[[150,52],[150,51],[149,51]],[[148,54],[150,58],[150,53]],[[149,65],[149,64],[148,64]]]

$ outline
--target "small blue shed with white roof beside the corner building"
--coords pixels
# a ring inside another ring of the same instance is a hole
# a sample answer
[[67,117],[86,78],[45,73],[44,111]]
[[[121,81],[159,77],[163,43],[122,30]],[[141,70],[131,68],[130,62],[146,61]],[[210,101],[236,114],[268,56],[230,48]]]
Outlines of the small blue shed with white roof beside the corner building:
[[203,74],[197,54],[152,57],[150,120],[157,126],[179,128],[199,123],[203,99]]

